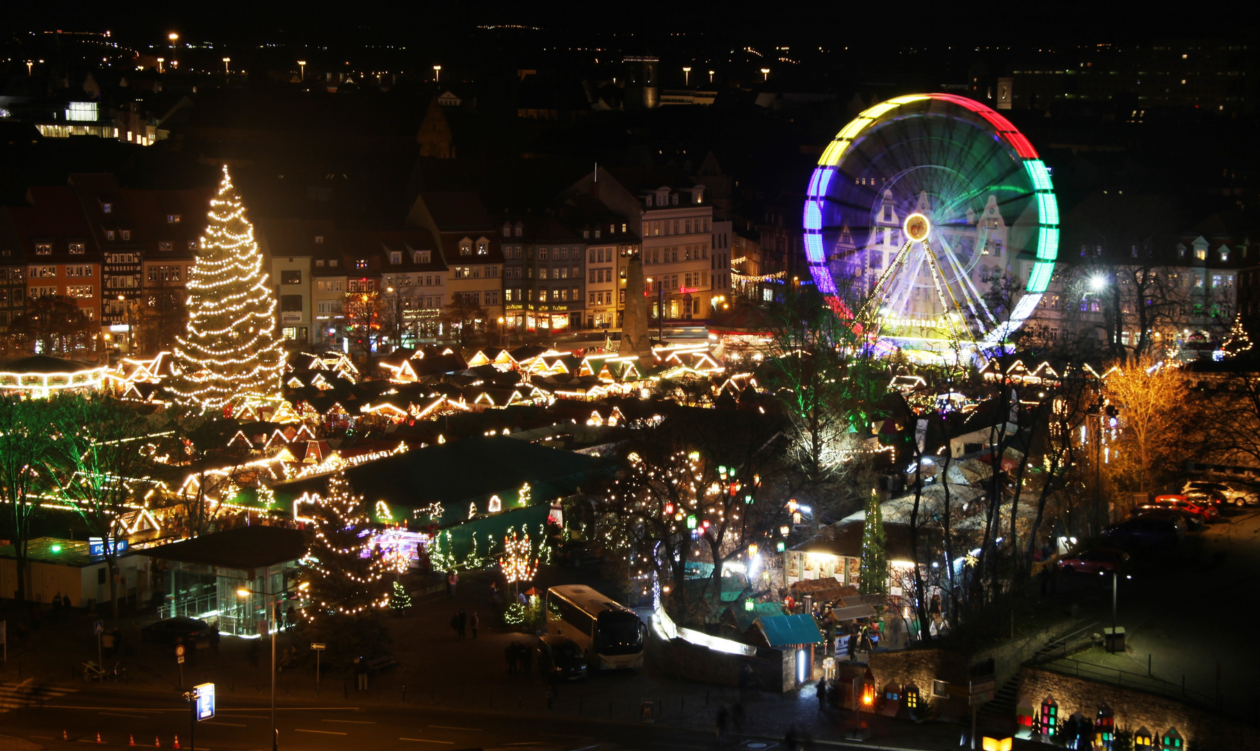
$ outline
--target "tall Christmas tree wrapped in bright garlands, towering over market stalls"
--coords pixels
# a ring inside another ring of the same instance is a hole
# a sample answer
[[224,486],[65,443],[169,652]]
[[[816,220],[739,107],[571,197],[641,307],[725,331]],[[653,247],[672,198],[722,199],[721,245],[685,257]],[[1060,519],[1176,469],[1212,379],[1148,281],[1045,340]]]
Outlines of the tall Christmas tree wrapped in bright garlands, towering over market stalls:
[[227,166],[200,246],[188,275],[188,334],[175,344],[180,377],[170,391],[215,410],[277,399],[276,296]]

